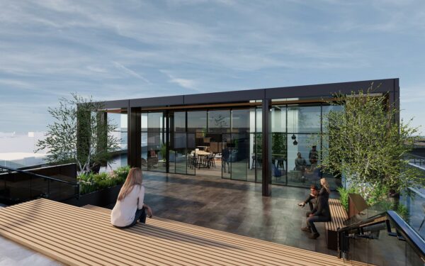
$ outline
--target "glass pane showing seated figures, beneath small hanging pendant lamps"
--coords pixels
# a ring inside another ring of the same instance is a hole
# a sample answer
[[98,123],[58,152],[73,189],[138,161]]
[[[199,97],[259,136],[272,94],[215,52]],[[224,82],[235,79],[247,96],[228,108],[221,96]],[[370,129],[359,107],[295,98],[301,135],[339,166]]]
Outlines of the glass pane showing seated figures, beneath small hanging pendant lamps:
[[[320,146],[312,148],[313,135],[297,134],[297,145],[294,145],[293,135],[288,134],[288,184],[298,187],[319,186],[320,172],[317,168],[317,153]],[[299,155],[299,156],[298,156]]]

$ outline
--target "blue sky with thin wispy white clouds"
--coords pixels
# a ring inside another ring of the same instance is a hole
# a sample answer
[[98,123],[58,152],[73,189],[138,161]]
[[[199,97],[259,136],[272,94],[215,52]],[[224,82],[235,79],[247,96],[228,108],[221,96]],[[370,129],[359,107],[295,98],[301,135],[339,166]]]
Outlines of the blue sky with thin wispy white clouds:
[[[0,0],[0,132],[48,106],[400,78],[425,125],[425,1]],[[424,131],[424,128],[422,128]]]

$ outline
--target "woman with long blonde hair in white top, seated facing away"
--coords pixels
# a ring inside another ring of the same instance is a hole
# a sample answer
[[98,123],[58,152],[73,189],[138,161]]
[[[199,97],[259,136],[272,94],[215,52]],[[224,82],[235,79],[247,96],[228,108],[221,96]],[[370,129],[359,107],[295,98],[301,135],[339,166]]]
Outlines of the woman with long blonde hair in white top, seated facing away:
[[146,213],[152,218],[152,209],[143,204],[145,187],[142,185],[142,170],[131,168],[127,179],[118,194],[117,203],[111,212],[111,223],[118,228],[129,228],[137,223],[145,223]]

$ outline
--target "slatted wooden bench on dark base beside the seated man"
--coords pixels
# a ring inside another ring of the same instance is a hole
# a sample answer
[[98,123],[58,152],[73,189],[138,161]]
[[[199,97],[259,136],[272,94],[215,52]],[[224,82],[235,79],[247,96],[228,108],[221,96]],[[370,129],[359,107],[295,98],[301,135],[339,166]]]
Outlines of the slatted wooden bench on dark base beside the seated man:
[[339,199],[329,199],[329,209],[331,211],[332,221],[324,223],[326,231],[327,248],[330,250],[338,249],[338,228],[344,227],[344,221],[348,219],[346,210]]

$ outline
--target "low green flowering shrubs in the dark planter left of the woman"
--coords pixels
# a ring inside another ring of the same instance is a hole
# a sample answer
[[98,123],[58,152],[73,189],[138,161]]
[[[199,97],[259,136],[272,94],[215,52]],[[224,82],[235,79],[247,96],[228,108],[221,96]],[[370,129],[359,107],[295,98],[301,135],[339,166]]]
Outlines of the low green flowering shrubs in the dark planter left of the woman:
[[80,174],[77,177],[77,181],[80,184],[80,194],[87,194],[90,192],[96,192],[101,189],[107,189],[108,187],[114,187],[118,184],[124,184],[127,178],[130,167],[119,167],[117,170],[101,174]]

